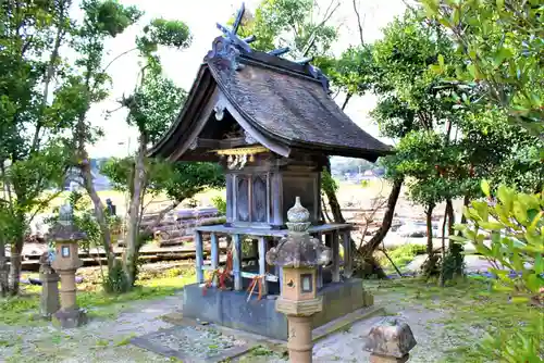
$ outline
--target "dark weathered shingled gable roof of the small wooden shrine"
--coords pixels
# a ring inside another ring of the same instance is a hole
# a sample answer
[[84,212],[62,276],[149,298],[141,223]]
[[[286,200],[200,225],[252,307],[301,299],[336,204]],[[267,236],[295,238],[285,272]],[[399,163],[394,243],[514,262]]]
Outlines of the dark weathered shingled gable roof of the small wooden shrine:
[[339,109],[329,96],[329,80],[309,63],[251,50],[237,37],[218,37],[184,109],[151,150],[152,157],[180,155],[174,149],[190,142],[187,138],[195,137],[199,127],[196,109],[209,99],[202,93],[217,89],[244,118],[236,121],[250,128],[246,132],[260,134],[252,135],[257,140],[281,145],[287,150],[284,157],[289,150],[301,149],[375,161],[392,152],[390,146],[362,130]]

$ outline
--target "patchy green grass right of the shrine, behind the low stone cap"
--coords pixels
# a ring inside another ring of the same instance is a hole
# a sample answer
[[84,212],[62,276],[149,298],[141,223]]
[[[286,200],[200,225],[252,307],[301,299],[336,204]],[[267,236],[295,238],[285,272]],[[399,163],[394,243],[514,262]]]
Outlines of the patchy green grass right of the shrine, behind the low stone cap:
[[[479,346],[487,335],[506,342],[534,323],[544,324],[542,308],[509,302],[508,295],[493,290],[486,279],[467,278],[446,288],[419,278],[368,281],[366,286],[378,298],[393,300],[392,312],[419,305],[444,313],[445,317],[428,322],[430,329],[437,330],[434,345],[444,351],[443,362],[487,362],[484,355],[490,352]],[[540,349],[544,354],[544,340]]]

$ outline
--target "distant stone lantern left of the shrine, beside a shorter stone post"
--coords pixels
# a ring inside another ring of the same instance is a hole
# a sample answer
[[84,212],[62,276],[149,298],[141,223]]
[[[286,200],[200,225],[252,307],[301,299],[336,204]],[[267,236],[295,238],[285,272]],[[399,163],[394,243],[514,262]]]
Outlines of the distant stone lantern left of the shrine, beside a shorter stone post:
[[87,322],[85,311],[77,306],[75,272],[83,265],[78,255],[78,242],[86,239],[85,233],[74,225],[72,208],[62,205],[59,222],[53,226],[51,238],[54,242],[51,267],[61,279],[61,309],[53,314],[53,324],[64,328],[77,327]]

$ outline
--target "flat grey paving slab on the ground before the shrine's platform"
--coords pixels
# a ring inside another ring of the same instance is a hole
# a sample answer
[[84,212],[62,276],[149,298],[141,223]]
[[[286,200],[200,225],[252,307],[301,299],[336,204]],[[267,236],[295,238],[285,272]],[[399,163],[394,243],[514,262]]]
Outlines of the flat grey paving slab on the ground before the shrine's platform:
[[154,353],[183,362],[222,362],[254,348],[246,340],[220,333],[212,327],[174,326],[136,337],[131,342]]

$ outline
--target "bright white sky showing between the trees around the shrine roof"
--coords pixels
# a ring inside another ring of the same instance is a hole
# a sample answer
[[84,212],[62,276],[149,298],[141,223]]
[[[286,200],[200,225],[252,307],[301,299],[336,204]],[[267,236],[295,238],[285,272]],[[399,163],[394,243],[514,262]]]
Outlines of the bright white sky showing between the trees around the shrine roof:
[[[341,53],[349,45],[359,43],[357,17],[351,0],[339,0],[341,7],[331,18],[331,25],[339,26],[339,39],[334,46],[335,53]],[[360,1],[360,13],[363,17],[364,41],[373,41],[381,37],[383,28],[394,16],[403,13],[405,5],[401,0],[356,0]],[[211,47],[213,38],[221,35],[215,23],[225,24],[233,13],[239,8],[242,0],[121,0],[123,4],[134,4],[145,11],[144,18],[118,38],[110,41],[107,47],[109,55],[106,63],[134,48],[134,39],[143,25],[154,17],[184,21],[194,36],[193,45],[187,50],[161,50],[160,55],[165,75],[177,85],[189,89],[197,70]],[[246,0],[246,9],[256,8],[259,0]],[[330,0],[318,0],[325,9]],[[128,95],[135,86],[138,73],[138,59],[135,53],[129,53],[115,61],[109,73],[113,78],[113,89],[110,98],[96,104],[89,112],[89,120],[94,125],[102,127],[104,138],[89,147],[92,158],[123,157],[133,151],[136,146],[136,130],[125,123],[126,113],[118,111],[108,120],[103,114],[107,110],[118,108],[115,102],[123,92]],[[343,102],[343,95],[337,97],[337,102]],[[360,127],[378,137],[378,127],[373,124],[368,113],[373,109],[375,100],[372,96],[354,98],[349,101],[346,113]],[[387,141],[387,140],[386,140]]]

